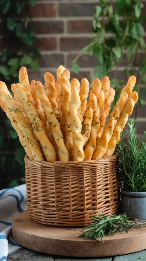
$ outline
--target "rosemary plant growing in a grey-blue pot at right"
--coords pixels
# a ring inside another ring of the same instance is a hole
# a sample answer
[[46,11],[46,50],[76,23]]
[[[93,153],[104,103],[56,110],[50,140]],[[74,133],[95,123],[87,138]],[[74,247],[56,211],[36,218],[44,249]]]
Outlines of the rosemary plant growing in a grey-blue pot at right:
[[121,209],[130,219],[146,219],[146,132],[144,141],[135,133],[135,121],[130,119],[126,130],[128,142],[121,134],[116,147],[121,183]]

